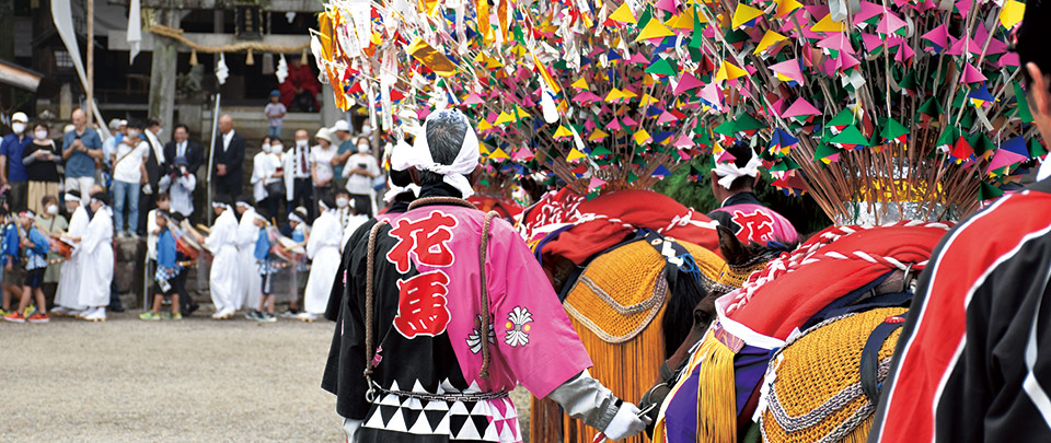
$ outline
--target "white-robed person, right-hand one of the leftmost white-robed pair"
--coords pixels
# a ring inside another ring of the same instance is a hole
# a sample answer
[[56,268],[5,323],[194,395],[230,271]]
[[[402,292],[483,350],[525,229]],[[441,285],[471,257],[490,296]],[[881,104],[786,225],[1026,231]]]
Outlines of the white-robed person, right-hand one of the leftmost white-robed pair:
[[88,205],[91,219],[84,231],[79,249],[81,269],[78,304],[85,306],[82,318],[89,322],[105,322],[109,306],[109,283],[113,282],[113,212],[109,196],[104,191],[91,195]]

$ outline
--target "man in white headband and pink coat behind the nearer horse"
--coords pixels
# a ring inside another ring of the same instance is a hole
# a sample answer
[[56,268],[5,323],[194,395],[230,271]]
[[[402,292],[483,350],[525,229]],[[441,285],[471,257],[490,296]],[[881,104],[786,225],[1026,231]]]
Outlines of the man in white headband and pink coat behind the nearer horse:
[[729,228],[746,244],[755,242],[765,246],[773,241],[788,245],[798,240],[792,222],[763,206],[752,191],[763,164],[759,155],[746,144],[731,145],[726,152],[734,155],[734,160],[716,162],[711,177],[712,194],[721,203],[707,215]]

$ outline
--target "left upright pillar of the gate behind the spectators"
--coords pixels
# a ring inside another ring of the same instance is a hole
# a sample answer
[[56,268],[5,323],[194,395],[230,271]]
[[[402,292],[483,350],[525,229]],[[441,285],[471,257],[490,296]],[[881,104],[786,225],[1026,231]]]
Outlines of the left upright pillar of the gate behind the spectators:
[[[160,9],[157,14],[158,23],[178,28],[180,14],[177,10]],[[178,42],[171,38],[153,35],[149,117],[160,118],[164,128],[162,133],[169,137],[171,137],[172,128],[175,126],[173,118],[175,116],[175,77],[178,73]]]

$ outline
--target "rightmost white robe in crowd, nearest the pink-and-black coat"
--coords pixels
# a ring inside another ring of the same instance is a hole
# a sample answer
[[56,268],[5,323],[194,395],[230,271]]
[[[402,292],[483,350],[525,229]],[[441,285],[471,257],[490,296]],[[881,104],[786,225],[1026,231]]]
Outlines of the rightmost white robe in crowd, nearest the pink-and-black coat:
[[324,314],[328,305],[328,293],[339,271],[339,241],[343,226],[333,211],[322,212],[314,220],[307,241],[307,257],[313,265],[307,279],[307,293],[303,296],[303,311],[311,314]]

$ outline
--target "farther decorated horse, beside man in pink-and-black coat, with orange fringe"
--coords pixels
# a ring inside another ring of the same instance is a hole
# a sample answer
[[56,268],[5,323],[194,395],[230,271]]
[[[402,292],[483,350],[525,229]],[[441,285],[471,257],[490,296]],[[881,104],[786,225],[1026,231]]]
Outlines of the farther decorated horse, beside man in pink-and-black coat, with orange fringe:
[[[522,226],[594,360],[591,375],[626,399],[639,398],[686,339],[694,306],[755,270],[713,252],[719,235],[705,215],[647,190],[589,201],[564,189],[530,208]],[[551,401],[534,399],[531,415],[533,441],[592,438]]]

